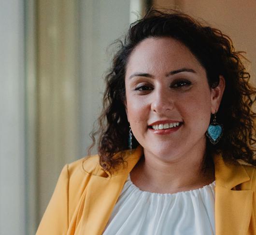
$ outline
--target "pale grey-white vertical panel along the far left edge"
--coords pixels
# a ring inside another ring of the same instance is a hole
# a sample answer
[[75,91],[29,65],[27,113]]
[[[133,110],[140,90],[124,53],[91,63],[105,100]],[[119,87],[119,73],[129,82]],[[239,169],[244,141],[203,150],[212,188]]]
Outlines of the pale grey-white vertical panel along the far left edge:
[[24,2],[0,0],[0,234],[25,235]]

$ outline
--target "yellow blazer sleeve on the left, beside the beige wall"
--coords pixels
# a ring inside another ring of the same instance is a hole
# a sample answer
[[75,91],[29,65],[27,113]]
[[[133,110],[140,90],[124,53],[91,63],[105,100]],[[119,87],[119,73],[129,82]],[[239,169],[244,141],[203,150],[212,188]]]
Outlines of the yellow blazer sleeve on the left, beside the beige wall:
[[36,235],[64,235],[68,231],[69,165],[62,169],[53,196],[44,212]]

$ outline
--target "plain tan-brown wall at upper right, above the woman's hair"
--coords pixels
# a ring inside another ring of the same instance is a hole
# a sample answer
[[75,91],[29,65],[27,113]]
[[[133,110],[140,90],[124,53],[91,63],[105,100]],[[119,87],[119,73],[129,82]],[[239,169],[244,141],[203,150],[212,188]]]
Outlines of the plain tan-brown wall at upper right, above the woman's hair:
[[247,52],[246,67],[256,82],[256,1],[255,0],[154,0],[157,7],[171,4],[227,34],[237,51]]

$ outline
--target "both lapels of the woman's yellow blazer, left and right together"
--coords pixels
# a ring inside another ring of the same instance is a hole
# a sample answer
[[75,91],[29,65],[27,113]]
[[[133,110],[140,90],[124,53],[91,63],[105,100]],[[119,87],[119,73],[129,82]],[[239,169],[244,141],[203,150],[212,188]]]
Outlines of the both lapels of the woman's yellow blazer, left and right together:
[[[84,211],[77,231],[100,235],[111,216],[114,205],[122,191],[129,172],[143,154],[139,146],[123,156],[125,167],[107,174],[98,167],[87,185]],[[252,190],[233,190],[235,186],[249,181],[244,168],[224,162],[221,155],[214,157],[215,166],[215,233],[216,235],[246,234],[252,211]],[[79,234],[78,232],[78,234]]]

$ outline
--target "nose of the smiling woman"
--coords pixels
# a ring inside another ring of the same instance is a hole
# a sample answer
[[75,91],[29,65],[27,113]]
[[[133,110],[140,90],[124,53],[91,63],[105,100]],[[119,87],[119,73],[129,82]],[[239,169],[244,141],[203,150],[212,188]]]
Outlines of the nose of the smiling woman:
[[155,91],[152,99],[151,110],[158,114],[164,114],[171,111],[174,107],[174,101],[171,97],[170,91]]

